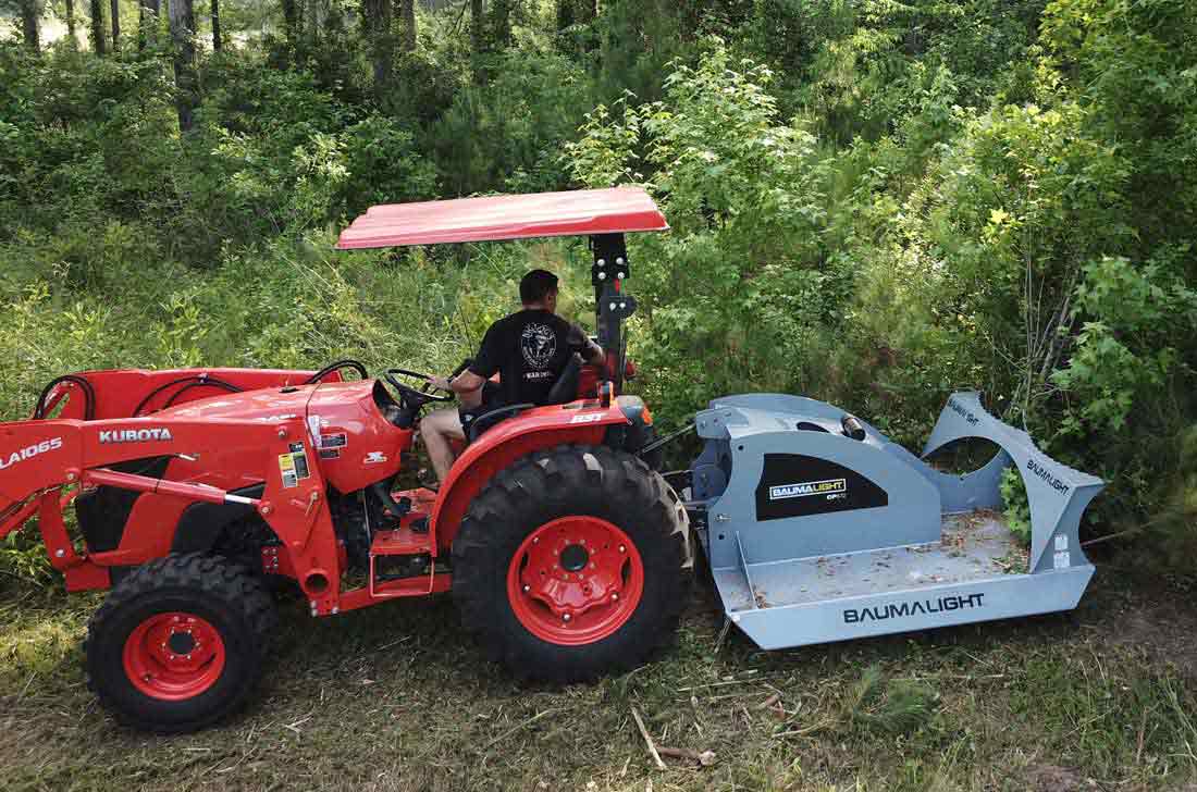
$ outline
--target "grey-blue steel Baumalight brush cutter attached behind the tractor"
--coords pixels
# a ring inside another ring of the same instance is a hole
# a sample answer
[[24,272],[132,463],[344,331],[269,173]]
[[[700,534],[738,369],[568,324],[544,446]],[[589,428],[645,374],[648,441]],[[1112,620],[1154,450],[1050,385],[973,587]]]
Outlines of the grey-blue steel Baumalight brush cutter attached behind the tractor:
[[[1101,480],[1047,457],[976,392],[948,400],[923,452],[998,446],[964,476],[810,398],[719,398],[695,426],[697,534],[729,619],[762,648],[1069,610],[1093,575],[1077,525]],[[996,511],[1011,464],[1029,558]]]

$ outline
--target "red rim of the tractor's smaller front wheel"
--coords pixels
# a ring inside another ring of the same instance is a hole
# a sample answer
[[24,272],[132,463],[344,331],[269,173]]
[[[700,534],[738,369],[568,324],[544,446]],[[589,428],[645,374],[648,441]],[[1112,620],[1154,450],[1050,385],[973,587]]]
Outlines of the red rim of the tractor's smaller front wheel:
[[124,641],[124,674],[151,699],[182,701],[208,690],[224,671],[220,633],[195,614],[154,614]]

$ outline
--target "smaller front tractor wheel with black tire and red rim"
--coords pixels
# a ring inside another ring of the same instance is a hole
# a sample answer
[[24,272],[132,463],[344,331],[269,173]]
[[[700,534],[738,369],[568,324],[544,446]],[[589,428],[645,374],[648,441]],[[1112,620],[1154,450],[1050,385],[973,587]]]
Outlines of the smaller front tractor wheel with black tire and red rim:
[[120,723],[202,729],[257,687],[274,603],[243,566],[174,554],[130,572],[87,625],[87,684]]

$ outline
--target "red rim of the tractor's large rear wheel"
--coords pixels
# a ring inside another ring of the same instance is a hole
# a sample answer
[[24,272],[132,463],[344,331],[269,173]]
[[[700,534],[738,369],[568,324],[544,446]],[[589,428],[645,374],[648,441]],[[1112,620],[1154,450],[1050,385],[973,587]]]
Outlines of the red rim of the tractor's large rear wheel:
[[561,517],[524,538],[508,567],[508,601],[536,638],[561,646],[601,641],[631,619],[644,562],[627,534],[597,517]]

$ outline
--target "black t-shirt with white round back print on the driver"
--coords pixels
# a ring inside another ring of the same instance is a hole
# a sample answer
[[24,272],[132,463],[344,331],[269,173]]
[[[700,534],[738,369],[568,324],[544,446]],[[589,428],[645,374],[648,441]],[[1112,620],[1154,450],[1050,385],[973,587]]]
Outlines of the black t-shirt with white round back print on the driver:
[[469,370],[484,379],[500,374],[499,403],[487,407],[543,404],[570,355],[585,358],[590,348],[577,325],[542,309],[524,309],[491,325]]

